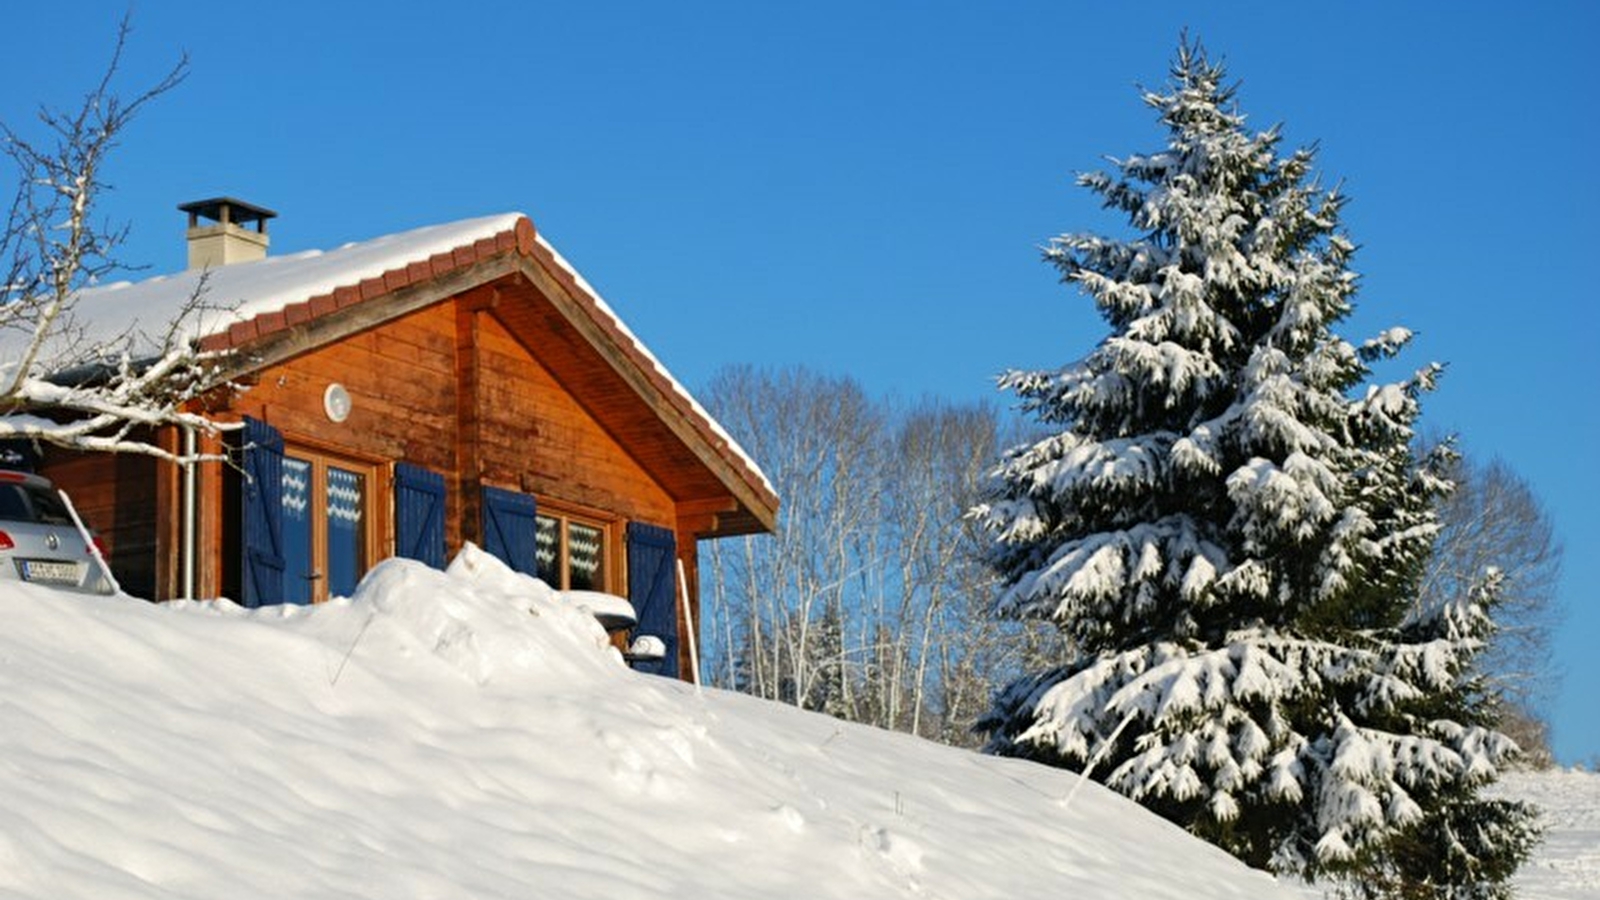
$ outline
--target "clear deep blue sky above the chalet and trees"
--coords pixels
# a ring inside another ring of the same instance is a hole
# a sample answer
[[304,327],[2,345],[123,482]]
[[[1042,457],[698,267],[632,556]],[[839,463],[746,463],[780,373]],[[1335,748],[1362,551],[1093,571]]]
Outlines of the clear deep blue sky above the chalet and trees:
[[[1072,187],[1157,149],[1136,83],[1182,27],[1251,122],[1320,141],[1354,197],[1346,336],[1419,331],[1427,421],[1502,456],[1566,544],[1554,709],[1600,757],[1587,283],[1595,5],[142,3],[122,85],[190,75],[126,135],[104,210],[125,258],[182,266],[184,200],[275,208],[274,250],[526,211],[691,388],[806,364],[875,392],[978,399],[1104,333],[1037,247],[1120,223]],[[5,13],[0,117],[70,104],[123,3]]]

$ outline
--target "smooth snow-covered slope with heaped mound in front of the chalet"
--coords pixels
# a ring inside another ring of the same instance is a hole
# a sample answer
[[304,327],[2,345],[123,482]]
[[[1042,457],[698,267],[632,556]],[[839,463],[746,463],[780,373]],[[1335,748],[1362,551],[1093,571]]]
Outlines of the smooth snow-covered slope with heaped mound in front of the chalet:
[[1096,785],[626,668],[482,554],[0,588],[0,897],[1293,897]]

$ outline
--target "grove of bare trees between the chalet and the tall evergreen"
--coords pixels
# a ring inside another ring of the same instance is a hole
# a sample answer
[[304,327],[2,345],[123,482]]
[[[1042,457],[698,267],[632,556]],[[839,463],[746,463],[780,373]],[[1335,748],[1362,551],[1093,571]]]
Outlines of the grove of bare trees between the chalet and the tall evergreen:
[[778,533],[707,548],[709,677],[974,745],[971,721],[1054,629],[989,613],[963,512],[1002,442],[986,405],[869,399],[848,378],[734,367],[702,392],[776,482]]

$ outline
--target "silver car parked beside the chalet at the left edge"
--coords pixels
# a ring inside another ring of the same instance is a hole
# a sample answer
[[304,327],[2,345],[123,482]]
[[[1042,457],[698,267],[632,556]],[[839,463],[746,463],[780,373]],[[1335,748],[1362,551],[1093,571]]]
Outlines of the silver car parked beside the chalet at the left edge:
[[30,472],[0,469],[0,586],[8,580],[112,591],[54,485]]

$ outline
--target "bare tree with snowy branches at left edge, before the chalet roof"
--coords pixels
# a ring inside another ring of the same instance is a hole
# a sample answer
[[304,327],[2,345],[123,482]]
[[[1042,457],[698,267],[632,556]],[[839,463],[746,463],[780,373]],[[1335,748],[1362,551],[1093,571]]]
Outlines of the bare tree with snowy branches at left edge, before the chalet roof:
[[98,219],[109,189],[106,159],[138,112],[178,86],[187,69],[179,59],[155,85],[123,99],[114,80],[128,35],[123,19],[106,72],[75,110],[40,107],[38,138],[0,123],[18,184],[0,234],[0,440],[179,460],[149,439],[149,428],[214,428],[184,412],[214,372],[187,328],[205,309],[203,279],[155,335],[93,338],[74,315],[80,291],[123,271],[117,248],[126,229]]

